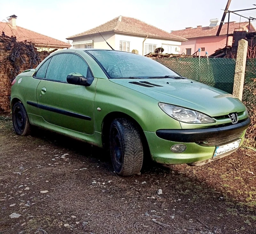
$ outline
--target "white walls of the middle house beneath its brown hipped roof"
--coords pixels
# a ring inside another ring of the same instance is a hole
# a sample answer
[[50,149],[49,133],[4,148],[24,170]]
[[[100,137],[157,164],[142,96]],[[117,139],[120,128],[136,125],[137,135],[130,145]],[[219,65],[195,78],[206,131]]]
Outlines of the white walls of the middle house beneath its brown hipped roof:
[[[146,38],[144,36],[135,36],[135,35],[129,35],[124,33],[101,33],[102,36],[105,38],[105,40],[108,42],[110,46],[112,46],[115,50],[119,50],[120,46],[120,40],[121,41],[129,41],[130,42],[130,52],[132,52],[133,49],[138,50],[139,55],[142,55],[142,43],[143,40]],[[94,48],[96,49],[110,49],[108,44],[103,40],[103,38],[100,36],[100,34],[95,34],[91,36],[84,36],[84,37],[78,37],[73,40],[73,43],[77,42],[89,42],[94,40]],[[163,47],[164,52],[168,53],[168,46],[172,47],[172,53],[178,54],[178,51],[175,51],[176,47],[179,47],[181,45],[181,41],[173,41],[173,40],[161,40],[161,39],[154,39],[154,38],[147,38],[144,42],[145,44],[153,44],[156,45],[156,48]],[[84,48],[81,45],[81,48]],[[170,48],[169,48],[170,49]],[[145,49],[144,49],[144,55],[145,55]]]

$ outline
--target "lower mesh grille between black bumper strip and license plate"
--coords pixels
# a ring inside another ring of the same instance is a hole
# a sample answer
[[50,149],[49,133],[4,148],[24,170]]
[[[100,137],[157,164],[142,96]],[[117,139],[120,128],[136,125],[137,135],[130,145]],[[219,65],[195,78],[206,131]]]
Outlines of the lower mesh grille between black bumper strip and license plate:
[[231,141],[235,141],[236,139],[238,139],[244,130],[241,130],[239,132],[236,132],[232,135],[228,135],[228,136],[220,136],[220,137],[214,137],[214,138],[207,138],[205,139],[203,142],[196,142],[199,145],[202,146],[217,146],[217,145],[224,145],[225,143],[231,142]]

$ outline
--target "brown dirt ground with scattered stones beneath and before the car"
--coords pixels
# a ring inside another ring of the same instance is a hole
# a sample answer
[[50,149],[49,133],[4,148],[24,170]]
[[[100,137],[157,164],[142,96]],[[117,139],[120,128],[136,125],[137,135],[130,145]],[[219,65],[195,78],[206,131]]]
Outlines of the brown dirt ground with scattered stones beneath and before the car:
[[103,150],[0,117],[0,160],[1,234],[256,233],[252,149],[120,177]]

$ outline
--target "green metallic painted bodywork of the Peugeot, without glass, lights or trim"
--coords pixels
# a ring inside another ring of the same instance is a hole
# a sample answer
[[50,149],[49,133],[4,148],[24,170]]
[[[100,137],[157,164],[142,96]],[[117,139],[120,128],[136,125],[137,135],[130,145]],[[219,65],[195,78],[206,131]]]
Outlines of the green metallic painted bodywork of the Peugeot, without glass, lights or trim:
[[[63,52],[76,53],[83,57],[92,71],[94,81],[91,86],[84,87],[33,78],[35,71],[43,62],[36,69],[22,72],[16,78],[18,80],[22,77],[21,83],[16,82],[12,86],[11,101],[19,99],[24,104],[32,125],[102,147],[101,133],[106,116],[111,113],[124,113],[137,121],[144,131],[153,160],[164,164],[181,164],[209,159],[215,147],[186,143],[187,149],[183,153],[175,154],[170,149],[177,142],[157,137],[156,130],[206,128],[230,123],[230,119],[218,118],[216,123],[212,124],[182,123],[164,113],[158,106],[159,102],[197,110],[211,117],[227,115],[231,112],[241,113],[239,120],[248,117],[241,101],[196,81],[171,78],[150,79],[149,82],[163,87],[142,87],[130,84],[129,82],[135,81],[132,79],[108,79],[99,64],[83,50],[69,49],[54,52],[50,56]],[[144,80],[141,79],[141,81]],[[42,88],[46,88],[46,91],[42,91]],[[90,116],[92,120],[82,120],[42,110],[27,105],[27,101]],[[98,107],[99,110],[97,110]],[[241,136],[240,145],[244,141],[244,133]]]

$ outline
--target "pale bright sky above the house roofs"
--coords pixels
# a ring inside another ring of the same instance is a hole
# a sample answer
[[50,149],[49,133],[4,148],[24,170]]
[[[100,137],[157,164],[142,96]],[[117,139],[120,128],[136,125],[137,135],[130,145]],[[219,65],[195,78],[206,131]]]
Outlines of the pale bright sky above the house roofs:
[[[226,4],[227,0],[0,0],[0,21],[15,14],[17,26],[67,41],[68,36],[120,15],[140,19],[167,32],[209,26],[210,19],[221,19]],[[256,7],[252,4],[256,0],[231,0],[229,10]],[[253,13],[256,18],[256,10]],[[239,22],[240,17],[231,14],[230,21]]]

